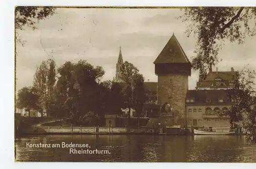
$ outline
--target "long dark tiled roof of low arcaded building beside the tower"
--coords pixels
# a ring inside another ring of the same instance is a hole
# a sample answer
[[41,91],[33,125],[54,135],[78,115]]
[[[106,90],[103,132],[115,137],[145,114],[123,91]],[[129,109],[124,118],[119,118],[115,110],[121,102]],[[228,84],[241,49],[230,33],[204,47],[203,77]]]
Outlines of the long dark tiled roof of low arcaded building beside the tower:
[[[194,102],[186,102],[187,105],[229,105],[229,95],[233,90],[188,90],[186,100],[194,99]],[[207,103],[206,100],[210,100]],[[219,102],[223,99],[223,102]]]

